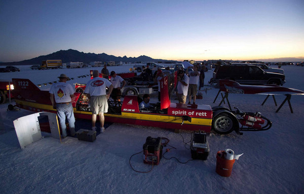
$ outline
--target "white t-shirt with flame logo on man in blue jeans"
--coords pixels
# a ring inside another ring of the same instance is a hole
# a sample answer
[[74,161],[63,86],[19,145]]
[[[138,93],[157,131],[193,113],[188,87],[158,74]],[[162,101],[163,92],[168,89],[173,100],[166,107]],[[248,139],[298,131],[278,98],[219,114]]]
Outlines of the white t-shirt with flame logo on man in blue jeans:
[[70,102],[70,95],[74,94],[74,89],[68,83],[57,82],[51,86],[49,93],[54,94],[57,103]]

